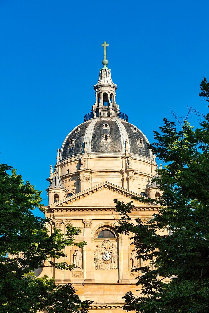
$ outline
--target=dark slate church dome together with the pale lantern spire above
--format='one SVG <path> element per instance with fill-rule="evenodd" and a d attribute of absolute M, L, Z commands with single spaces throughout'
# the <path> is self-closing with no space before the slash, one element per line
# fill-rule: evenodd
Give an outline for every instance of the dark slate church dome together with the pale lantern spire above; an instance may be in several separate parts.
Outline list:
<path fill-rule="evenodd" d="M 120 112 L 115 101 L 117 85 L 108 69 L 106 53 L 99 80 L 94 85 L 96 101 L 84 123 L 76 126 L 66 137 L 60 151 L 60 161 L 82 153 L 131 153 L 150 158 L 147 138 L 136 126 L 128 123 L 128 116 Z"/>

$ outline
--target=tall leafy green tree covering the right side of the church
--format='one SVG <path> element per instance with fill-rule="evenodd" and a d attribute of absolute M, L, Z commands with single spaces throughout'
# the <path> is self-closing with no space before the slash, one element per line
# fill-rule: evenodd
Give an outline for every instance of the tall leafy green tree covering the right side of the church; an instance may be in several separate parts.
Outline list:
<path fill-rule="evenodd" d="M 204 78 L 200 96 L 209 101 Z M 166 166 L 155 178 L 163 192 L 159 213 L 143 224 L 132 223 L 131 203 L 115 200 L 118 231 L 133 233 L 145 266 L 137 285 L 139 297 L 125 295 L 125 310 L 143 313 L 209 311 L 209 114 L 194 130 L 187 118 L 164 119 L 154 131 L 151 151 Z M 166 230 L 166 234 L 163 231 Z M 165 233 L 165 232 L 164 232 Z M 150 263 L 149 263 L 150 260 Z"/>

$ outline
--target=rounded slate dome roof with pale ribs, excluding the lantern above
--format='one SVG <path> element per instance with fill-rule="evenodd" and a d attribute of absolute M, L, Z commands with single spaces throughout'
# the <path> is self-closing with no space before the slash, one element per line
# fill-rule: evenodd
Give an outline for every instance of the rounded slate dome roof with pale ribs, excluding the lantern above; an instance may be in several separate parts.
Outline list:
<path fill-rule="evenodd" d="M 70 156 L 87 154 L 128 153 L 150 158 L 147 138 L 136 126 L 117 117 L 96 117 L 76 126 L 66 137 L 60 151 L 60 161 Z"/>

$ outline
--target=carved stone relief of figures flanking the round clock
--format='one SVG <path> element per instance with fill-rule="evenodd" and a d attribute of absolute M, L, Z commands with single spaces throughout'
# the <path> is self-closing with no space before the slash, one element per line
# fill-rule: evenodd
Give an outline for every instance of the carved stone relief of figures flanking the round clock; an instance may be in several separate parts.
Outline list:
<path fill-rule="evenodd" d="M 118 269 L 118 250 L 110 240 L 103 240 L 94 251 L 95 269 Z"/>

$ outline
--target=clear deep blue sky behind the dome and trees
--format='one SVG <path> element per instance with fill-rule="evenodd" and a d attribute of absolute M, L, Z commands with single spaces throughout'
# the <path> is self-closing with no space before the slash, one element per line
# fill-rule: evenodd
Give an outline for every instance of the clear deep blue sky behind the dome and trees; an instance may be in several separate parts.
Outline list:
<path fill-rule="evenodd" d="M 116 101 L 149 141 L 171 108 L 206 112 L 208 1 L 0 1 L 0 162 L 43 190 L 94 104 L 103 48 Z M 192 119 L 195 122 L 195 119 Z"/>

